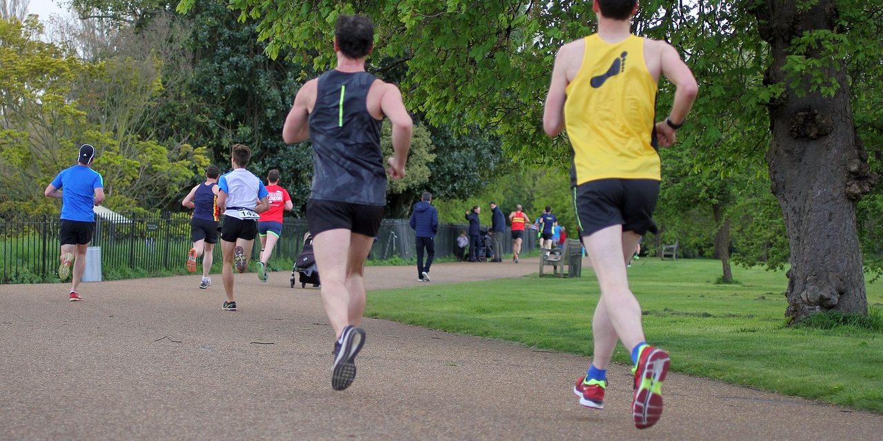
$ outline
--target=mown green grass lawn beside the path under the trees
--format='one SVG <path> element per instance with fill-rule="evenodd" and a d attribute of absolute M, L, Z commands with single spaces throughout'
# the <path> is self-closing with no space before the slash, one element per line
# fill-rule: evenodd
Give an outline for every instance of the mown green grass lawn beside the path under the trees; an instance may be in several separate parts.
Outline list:
<path fill-rule="evenodd" d="M 875 329 L 794 328 L 783 315 L 783 272 L 733 273 L 736 284 L 718 285 L 721 263 L 699 259 L 644 258 L 629 269 L 647 341 L 671 353 L 673 371 L 883 413 L 881 284 L 868 286 Z M 591 355 L 599 289 L 592 270 L 583 276 L 373 291 L 366 315 Z M 614 360 L 630 356 L 620 346 Z"/>

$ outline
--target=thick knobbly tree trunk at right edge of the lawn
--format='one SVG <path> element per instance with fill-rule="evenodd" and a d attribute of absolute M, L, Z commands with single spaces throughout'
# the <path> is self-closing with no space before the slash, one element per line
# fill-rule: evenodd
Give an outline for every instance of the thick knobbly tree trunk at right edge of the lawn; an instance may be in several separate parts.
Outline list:
<path fill-rule="evenodd" d="M 804 11 L 796 4 L 805 2 L 766 0 L 754 11 L 773 56 L 765 82 L 785 85 L 769 104 L 773 138 L 766 154 L 791 252 L 785 315 L 799 321 L 826 310 L 867 314 L 856 203 L 876 176 L 856 137 L 842 61 L 828 56 L 821 69 L 823 78 L 839 85 L 833 95 L 811 91 L 812 68 L 796 77 L 783 69 L 789 55 L 820 57 L 817 49 L 796 53 L 793 39 L 814 30 L 837 32 L 834 0 Z"/>

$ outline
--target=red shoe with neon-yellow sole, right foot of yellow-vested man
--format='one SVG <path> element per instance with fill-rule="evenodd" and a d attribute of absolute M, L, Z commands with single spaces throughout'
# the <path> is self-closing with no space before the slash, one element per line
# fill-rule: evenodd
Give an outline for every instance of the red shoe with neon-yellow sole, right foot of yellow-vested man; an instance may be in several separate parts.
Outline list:
<path fill-rule="evenodd" d="M 635 395 L 631 400 L 631 410 L 635 417 L 635 427 L 646 429 L 653 426 L 662 416 L 662 380 L 668 372 L 668 352 L 646 346 L 638 357 L 635 374 Z"/>

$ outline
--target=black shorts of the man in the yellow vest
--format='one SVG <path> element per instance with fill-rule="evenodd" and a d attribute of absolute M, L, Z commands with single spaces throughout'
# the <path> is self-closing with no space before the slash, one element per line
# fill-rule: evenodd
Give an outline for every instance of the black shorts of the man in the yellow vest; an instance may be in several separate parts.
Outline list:
<path fill-rule="evenodd" d="M 653 179 L 600 179 L 577 185 L 573 202 L 580 235 L 622 225 L 623 231 L 644 235 L 657 232 L 653 210 L 660 182 Z"/>

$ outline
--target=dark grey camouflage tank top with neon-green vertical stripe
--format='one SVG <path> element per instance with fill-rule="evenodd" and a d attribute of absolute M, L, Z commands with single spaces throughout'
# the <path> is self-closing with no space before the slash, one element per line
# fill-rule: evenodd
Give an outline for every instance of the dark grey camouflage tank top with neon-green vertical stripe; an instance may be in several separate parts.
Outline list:
<path fill-rule="evenodd" d="M 381 121 L 368 113 L 374 75 L 327 71 L 319 77 L 310 114 L 313 185 L 310 198 L 385 206 L 387 178 Z"/>

